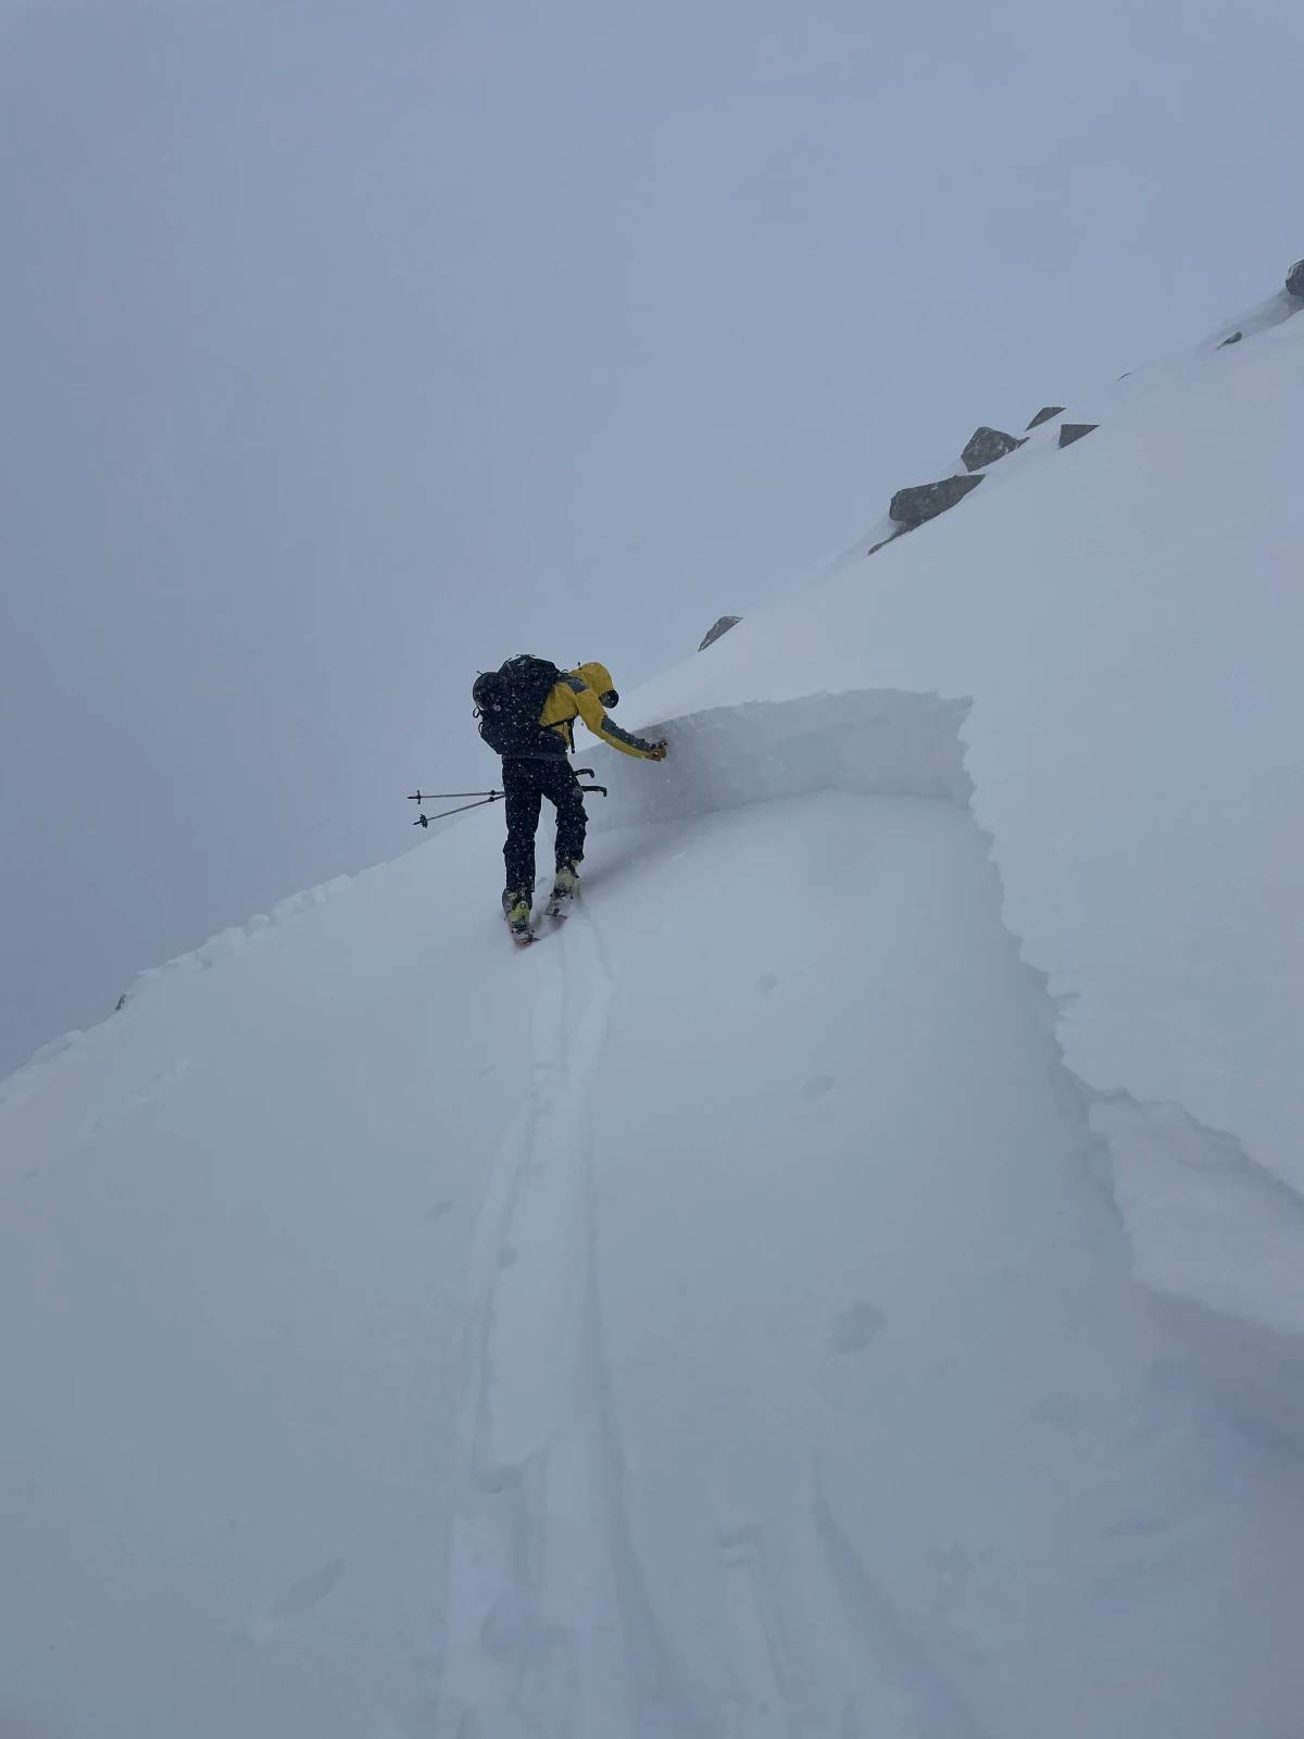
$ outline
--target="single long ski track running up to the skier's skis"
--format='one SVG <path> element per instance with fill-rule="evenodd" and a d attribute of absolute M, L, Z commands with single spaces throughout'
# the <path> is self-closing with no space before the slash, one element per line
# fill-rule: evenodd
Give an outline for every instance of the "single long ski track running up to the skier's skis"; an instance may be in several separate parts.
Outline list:
<path fill-rule="evenodd" d="M 581 911 L 556 943 L 473 1245 L 440 1739 L 695 1730 L 629 1544 L 598 1308 L 589 1101 L 614 979 Z"/>

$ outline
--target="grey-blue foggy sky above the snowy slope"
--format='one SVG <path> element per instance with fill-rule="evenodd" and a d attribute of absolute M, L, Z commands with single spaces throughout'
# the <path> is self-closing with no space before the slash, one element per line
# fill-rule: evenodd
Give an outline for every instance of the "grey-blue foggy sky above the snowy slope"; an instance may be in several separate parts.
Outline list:
<path fill-rule="evenodd" d="M 1269 294 L 1299 12 L 0 0 L 0 1073 Z"/>

